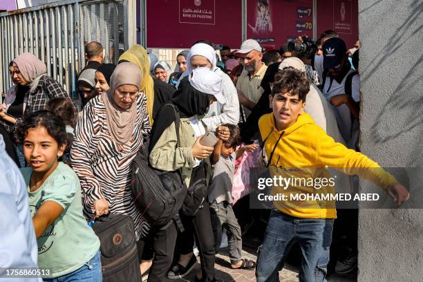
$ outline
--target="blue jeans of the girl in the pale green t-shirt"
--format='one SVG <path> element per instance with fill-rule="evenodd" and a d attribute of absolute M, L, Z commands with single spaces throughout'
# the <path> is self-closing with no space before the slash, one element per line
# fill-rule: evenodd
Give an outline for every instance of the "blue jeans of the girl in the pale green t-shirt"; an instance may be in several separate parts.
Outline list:
<path fill-rule="evenodd" d="M 102 262 L 100 261 L 100 250 L 87 261 L 82 267 L 74 272 L 59 276 L 53 279 L 43 279 L 44 282 L 102 282 Z"/>

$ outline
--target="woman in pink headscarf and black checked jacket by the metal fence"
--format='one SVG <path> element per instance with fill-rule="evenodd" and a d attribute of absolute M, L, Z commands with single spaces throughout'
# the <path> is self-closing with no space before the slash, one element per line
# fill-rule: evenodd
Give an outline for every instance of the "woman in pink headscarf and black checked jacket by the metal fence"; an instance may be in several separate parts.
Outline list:
<path fill-rule="evenodd" d="M 59 82 L 46 72 L 46 64 L 31 53 L 23 53 L 10 62 L 10 77 L 16 85 L 10 88 L 0 106 L 1 120 L 13 125 L 34 111 L 44 110 L 48 100 L 54 97 L 69 98 Z"/>

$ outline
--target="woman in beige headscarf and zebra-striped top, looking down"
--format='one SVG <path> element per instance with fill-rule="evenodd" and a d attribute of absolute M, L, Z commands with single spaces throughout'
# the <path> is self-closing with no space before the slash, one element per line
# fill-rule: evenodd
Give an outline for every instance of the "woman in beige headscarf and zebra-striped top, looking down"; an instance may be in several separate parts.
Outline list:
<path fill-rule="evenodd" d="M 130 185 L 132 160 L 151 130 L 147 99 L 138 92 L 142 75 L 140 68 L 129 62 L 115 68 L 109 91 L 84 107 L 71 151 L 86 216 L 129 215 L 137 240 L 149 231 L 135 207 Z"/>

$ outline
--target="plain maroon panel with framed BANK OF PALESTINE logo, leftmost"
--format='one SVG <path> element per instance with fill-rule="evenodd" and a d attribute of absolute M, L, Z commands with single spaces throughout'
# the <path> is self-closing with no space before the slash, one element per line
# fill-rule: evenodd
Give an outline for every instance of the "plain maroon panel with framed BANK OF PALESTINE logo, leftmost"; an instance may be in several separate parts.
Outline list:
<path fill-rule="evenodd" d="M 189 48 L 207 39 L 239 48 L 242 0 L 147 0 L 147 47 Z"/>

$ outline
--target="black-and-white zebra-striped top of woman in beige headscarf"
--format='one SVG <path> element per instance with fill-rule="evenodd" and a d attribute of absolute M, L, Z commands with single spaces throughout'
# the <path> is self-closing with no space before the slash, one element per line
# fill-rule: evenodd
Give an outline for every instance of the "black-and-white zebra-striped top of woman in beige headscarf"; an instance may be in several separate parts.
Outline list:
<path fill-rule="evenodd" d="M 131 194 L 132 160 L 144 138 L 150 134 L 147 98 L 137 97 L 137 118 L 131 140 L 118 144 L 111 138 L 106 123 L 102 96 L 94 97 L 82 111 L 75 129 L 71 150 L 72 168 L 81 182 L 84 213 L 93 217 L 93 202 L 106 198 L 112 214 L 133 218 L 137 240 L 146 236 L 149 225 L 135 207 Z"/>

